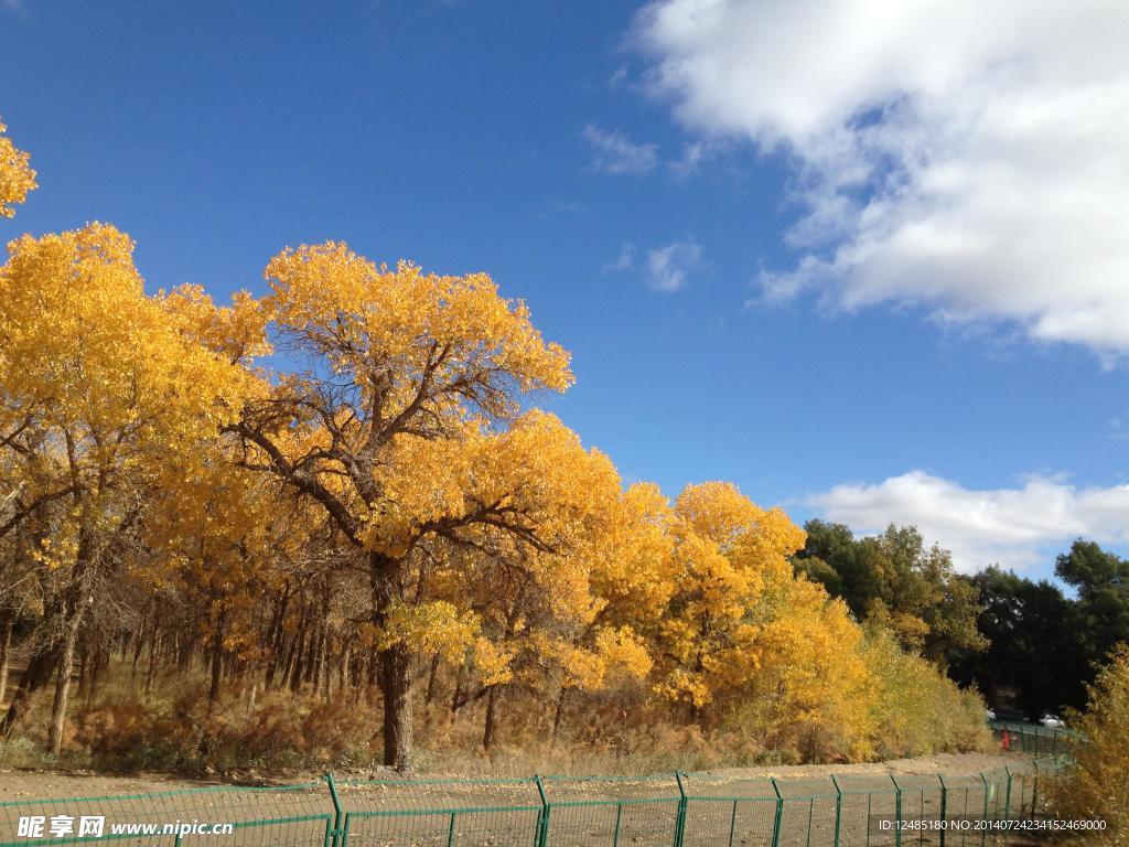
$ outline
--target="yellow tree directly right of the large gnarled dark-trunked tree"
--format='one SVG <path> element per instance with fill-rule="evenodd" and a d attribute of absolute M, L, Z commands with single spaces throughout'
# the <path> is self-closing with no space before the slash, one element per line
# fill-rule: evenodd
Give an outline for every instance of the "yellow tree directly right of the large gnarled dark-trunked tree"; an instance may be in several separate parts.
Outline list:
<path fill-rule="evenodd" d="M 434 592 L 467 604 L 488 641 L 485 654 L 495 657 L 479 684 L 462 696 L 462 701 L 485 699 L 484 748 L 492 744 L 507 688 L 532 691 L 555 679 L 563 688 L 592 691 L 610 676 L 647 675 L 651 662 L 642 640 L 625 621 L 603 615 L 607 600 L 601 587 L 610 562 L 630 568 L 639 556 L 637 513 L 605 455 L 583 449 L 575 433 L 536 411 L 483 439 L 479 461 L 471 459 L 469 444 L 449 457 L 419 439 L 412 444 L 425 455 L 394 466 L 413 474 L 420 469 L 430 484 L 404 480 L 415 496 L 423 495 L 419 500 L 395 495 L 399 489 L 390 484 L 397 503 L 410 504 L 406 513 L 439 519 L 452 504 L 429 515 L 437 494 L 454 501 L 504 498 L 530 530 L 525 535 L 489 524 L 469 527 L 458 536 L 456 566 L 430 577 Z M 460 457 L 469 464 L 460 466 Z M 426 464 L 429 459 L 435 464 Z M 456 503 L 455 510 L 462 508 Z"/>

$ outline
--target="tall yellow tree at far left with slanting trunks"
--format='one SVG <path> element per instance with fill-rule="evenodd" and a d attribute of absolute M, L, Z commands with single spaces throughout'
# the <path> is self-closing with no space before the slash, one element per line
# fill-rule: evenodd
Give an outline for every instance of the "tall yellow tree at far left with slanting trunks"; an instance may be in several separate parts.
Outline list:
<path fill-rule="evenodd" d="M 0 269 L 0 436 L 25 472 L 5 530 L 62 506 L 35 551 L 62 574 L 5 728 L 56 678 L 58 751 L 78 632 L 123 559 L 169 453 L 215 437 L 242 403 L 242 370 L 185 338 L 146 297 L 133 243 L 112 226 L 24 236 Z"/>

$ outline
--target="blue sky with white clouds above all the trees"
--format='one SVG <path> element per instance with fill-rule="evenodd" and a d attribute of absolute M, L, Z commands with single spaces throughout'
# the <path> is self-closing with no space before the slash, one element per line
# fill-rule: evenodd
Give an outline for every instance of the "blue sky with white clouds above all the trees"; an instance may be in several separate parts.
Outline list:
<path fill-rule="evenodd" d="M 838 2 L 3 0 L 0 115 L 41 187 L 0 235 L 112 221 L 151 289 L 219 299 L 325 238 L 485 270 L 572 351 L 576 387 L 544 403 L 625 479 L 728 479 L 1047 574 L 1129 525 L 1124 69 L 1075 79 L 1054 41 L 1126 16 L 1016 36 L 1000 3 L 981 29 L 1009 61 L 1062 60 L 1000 77 L 991 37 L 955 34 L 974 5 L 947 53 L 913 50 L 936 3 L 905 6 L 886 43 Z M 1095 85 L 1113 99 L 1048 94 Z M 952 111 L 1005 95 L 1042 107 L 1038 146 Z M 1079 108 L 1091 134 L 1056 134 Z M 1112 186 L 1038 160 L 1095 150 Z M 1056 197 L 1059 217 L 1023 209 Z"/>

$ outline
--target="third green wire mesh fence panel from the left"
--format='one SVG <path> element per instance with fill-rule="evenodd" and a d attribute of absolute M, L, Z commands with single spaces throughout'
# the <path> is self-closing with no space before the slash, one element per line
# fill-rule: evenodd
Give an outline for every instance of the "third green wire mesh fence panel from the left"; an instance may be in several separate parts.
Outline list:
<path fill-rule="evenodd" d="M 542 847 L 668 847 L 684 826 L 677 778 L 544 777 Z"/>

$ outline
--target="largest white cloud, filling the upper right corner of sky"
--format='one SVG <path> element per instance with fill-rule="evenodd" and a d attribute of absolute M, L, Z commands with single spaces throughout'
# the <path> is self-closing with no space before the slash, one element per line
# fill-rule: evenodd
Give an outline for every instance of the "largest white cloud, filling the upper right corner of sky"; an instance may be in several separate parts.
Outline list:
<path fill-rule="evenodd" d="M 1124 0 L 659 0 L 637 36 L 688 128 L 794 168 L 767 297 L 1129 353 Z"/>

